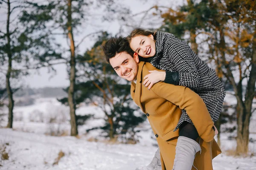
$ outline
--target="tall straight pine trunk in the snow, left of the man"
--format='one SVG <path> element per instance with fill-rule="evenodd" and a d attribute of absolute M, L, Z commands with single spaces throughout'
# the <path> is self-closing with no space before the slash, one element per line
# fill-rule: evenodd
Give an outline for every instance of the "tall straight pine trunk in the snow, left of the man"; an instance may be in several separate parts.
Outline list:
<path fill-rule="evenodd" d="M 71 136 L 76 136 L 78 134 L 76 125 L 76 105 L 74 100 L 74 86 L 75 86 L 75 76 L 76 76 L 76 59 L 75 59 L 75 43 L 73 39 L 72 32 L 72 11 L 71 5 L 72 0 L 68 0 L 67 8 L 67 29 L 68 37 L 70 39 L 70 87 L 68 89 L 68 105 L 70 107 L 70 124 L 71 124 Z"/>

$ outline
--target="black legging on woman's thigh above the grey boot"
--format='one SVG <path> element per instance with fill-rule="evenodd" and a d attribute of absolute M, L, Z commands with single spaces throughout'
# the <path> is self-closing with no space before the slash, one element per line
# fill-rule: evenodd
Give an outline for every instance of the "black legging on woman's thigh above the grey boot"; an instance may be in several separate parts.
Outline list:
<path fill-rule="evenodd" d="M 196 140 L 199 136 L 195 126 L 191 125 L 189 122 L 183 122 L 179 128 L 180 136 L 185 136 L 193 140 Z"/>

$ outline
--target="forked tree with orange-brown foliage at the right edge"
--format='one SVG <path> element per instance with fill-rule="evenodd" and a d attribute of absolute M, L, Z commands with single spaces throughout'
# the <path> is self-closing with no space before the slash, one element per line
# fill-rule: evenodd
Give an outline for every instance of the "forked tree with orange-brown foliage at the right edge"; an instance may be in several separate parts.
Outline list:
<path fill-rule="evenodd" d="M 227 79 L 235 92 L 238 118 L 236 155 L 245 155 L 248 152 L 252 101 L 256 95 L 256 2 L 209 2 L 218 10 L 209 21 L 209 50 L 215 59 L 218 76 Z"/>

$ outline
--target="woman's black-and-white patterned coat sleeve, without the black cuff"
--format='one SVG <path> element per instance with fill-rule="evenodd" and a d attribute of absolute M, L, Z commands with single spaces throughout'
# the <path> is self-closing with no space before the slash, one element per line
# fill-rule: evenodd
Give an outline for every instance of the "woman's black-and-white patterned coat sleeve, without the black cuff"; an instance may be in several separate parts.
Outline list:
<path fill-rule="evenodd" d="M 169 35 L 169 38 L 164 51 L 167 55 L 167 62 L 172 62 L 178 71 L 178 85 L 196 88 L 198 86 L 198 70 L 192 60 L 193 55 L 196 54 L 186 42 L 177 39 L 174 35 Z"/>

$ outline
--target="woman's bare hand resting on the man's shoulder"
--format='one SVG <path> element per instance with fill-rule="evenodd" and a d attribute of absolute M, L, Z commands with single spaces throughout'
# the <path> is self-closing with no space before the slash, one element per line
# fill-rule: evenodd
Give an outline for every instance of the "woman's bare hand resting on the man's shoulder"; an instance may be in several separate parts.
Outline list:
<path fill-rule="evenodd" d="M 143 85 L 148 87 L 148 90 L 157 82 L 164 81 L 166 72 L 165 71 L 148 71 L 150 74 L 145 75 Z"/>

